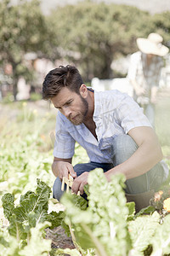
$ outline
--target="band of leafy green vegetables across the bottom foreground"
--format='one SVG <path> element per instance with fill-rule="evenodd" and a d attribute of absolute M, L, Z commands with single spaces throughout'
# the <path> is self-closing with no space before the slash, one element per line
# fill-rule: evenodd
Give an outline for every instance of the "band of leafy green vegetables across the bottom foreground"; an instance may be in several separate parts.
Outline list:
<path fill-rule="evenodd" d="M 43 230 L 62 225 L 66 233 L 71 234 L 76 248 L 59 248 L 51 255 L 161 256 L 170 253 L 170 215 L 161 219 L 160 214 L 153 211 L 154 207 L 144 208 L 135 215 L 134 203 L 126 203 L 123 188 L 121 174 L 108 183 L 103 171 L 96 169 L 88 176 L 88 207 L 81 196 L 65 194 L 62 197 L 65 212 L 49 214 L 50 188 L 39 179 L 36 192 L 27 191 L 20 196 L 20 206 L 14 206 L 14 195 L 3 195 L 3 212 L 9 221 L 10 236 L 7 230 L 0 230 L 2 252 L 7 256 L 48 255 L 51 241 L 44 241 Z"/>

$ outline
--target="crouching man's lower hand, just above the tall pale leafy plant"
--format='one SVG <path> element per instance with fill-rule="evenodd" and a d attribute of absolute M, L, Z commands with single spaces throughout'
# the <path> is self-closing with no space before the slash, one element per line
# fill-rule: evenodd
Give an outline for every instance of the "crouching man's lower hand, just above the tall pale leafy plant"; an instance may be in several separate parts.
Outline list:
<path fill-rule="evenodd" d="M 73 184 L 72 184 L 72 192 L 75 194 L 80 191 L 80 194 L 83 194 L 83 187 L 88 183 L 88 174 L 89 172 L 83 172 L 79 177 L 76 177 Z"/>

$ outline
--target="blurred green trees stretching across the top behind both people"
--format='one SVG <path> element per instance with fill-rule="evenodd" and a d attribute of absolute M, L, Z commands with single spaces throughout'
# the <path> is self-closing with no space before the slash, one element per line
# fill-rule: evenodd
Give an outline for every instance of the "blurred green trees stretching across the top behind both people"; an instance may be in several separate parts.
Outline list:
<path fill-rule="evenodd" d="M 15 85 L 19 76 L 35 84 L 33 65 L 25 58 L 30 52 L 51 61 L 74 63 L 89 82 L 94 76 L 115 77 L 111 61 L 133 53 L 136 38 L 150 32 L 160 32 L 165 44 L 170 38 L 169 12 L 150 15 L 133 6 L 81 1 L 57 6 L 51 15 L 44 16 L 38 0 L 12 3 L 0 2 L 0 61 L 3 68 L 12 65 Z"/>

